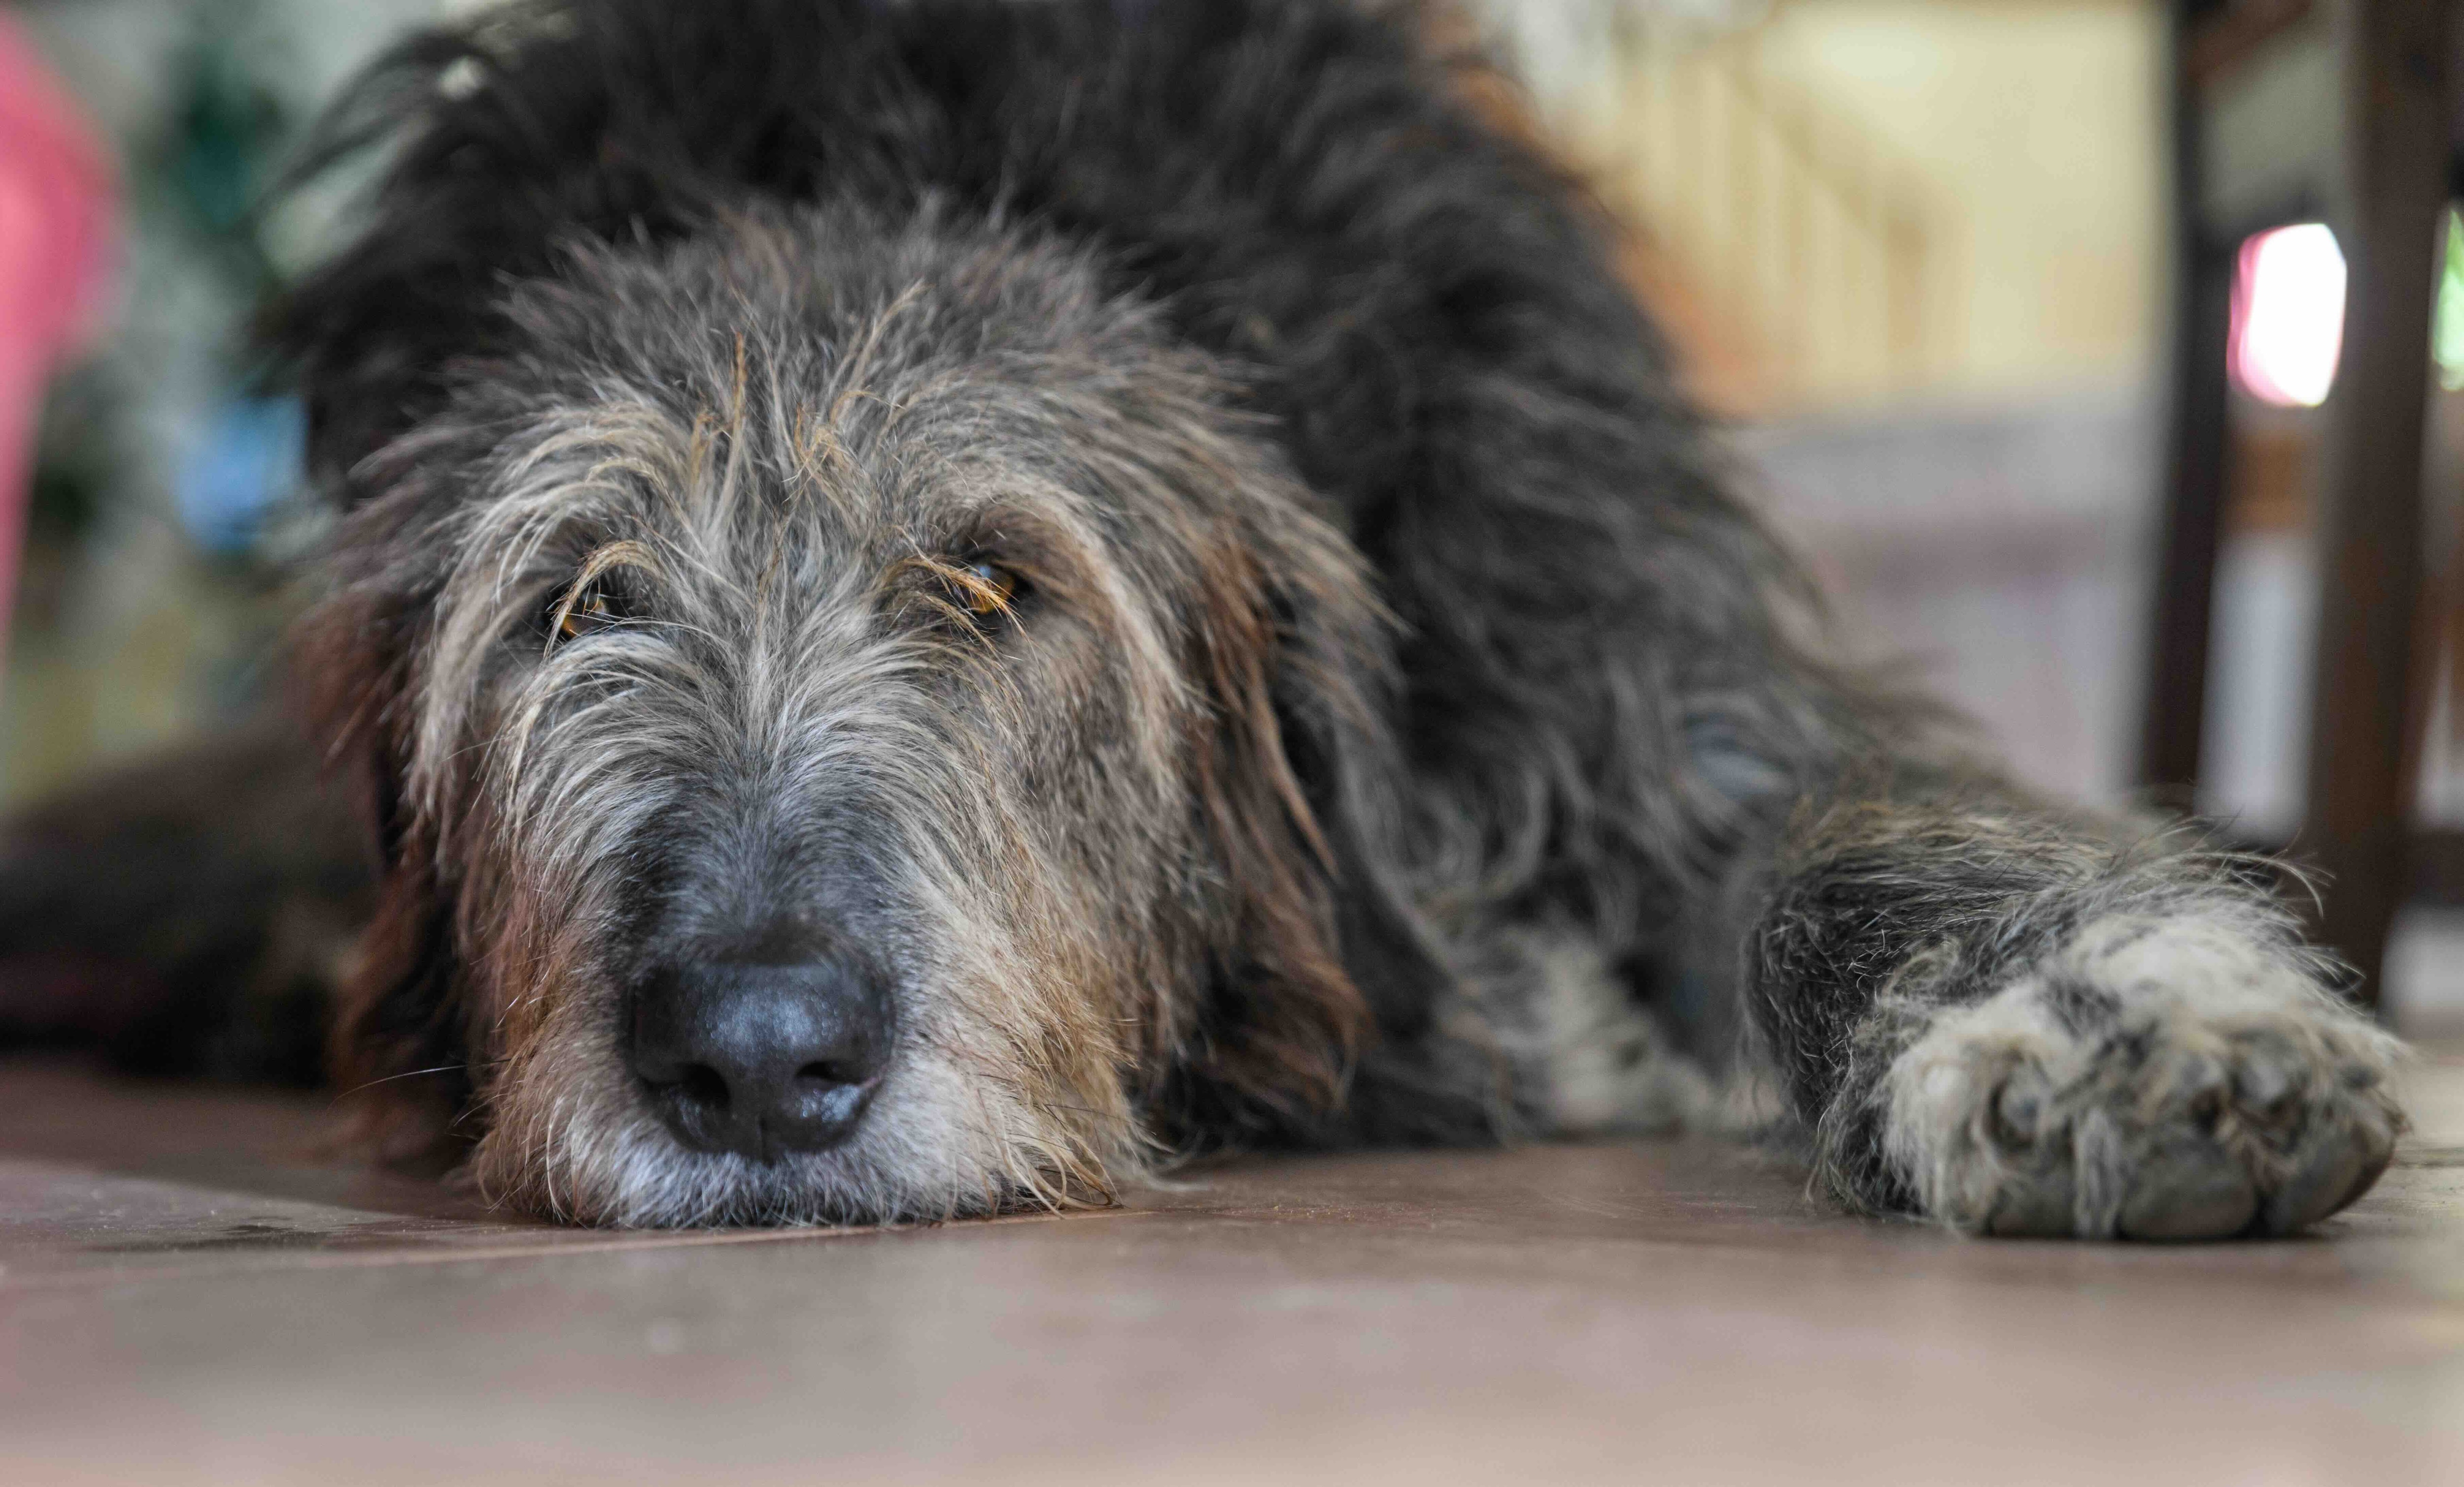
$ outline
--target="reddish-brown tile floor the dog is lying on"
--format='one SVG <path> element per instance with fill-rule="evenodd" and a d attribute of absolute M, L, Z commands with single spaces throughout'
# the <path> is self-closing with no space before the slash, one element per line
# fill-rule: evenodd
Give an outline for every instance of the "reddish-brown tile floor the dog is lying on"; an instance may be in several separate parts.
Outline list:
<path fill-rule="evenodd" d="M 1663 1142 L 609 1236 L 0 1064 L 0 1482 L 2464 1482 L 2464 1051 L 2314 1238 L 1860 1224 Z"/>

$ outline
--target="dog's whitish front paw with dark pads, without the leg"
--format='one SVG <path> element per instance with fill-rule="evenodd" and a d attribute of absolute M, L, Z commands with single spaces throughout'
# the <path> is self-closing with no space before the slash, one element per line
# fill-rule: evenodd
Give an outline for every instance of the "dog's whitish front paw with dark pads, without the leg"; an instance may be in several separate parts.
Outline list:
<path fill-rule="evenodd" d="M 2395 1056 L 2252 926 L 2109 918 L 1932 1019 L 1885 1081 L 1885 1150 L 1956 1228 L 2292 1233 L 2388 1167 Z"/>

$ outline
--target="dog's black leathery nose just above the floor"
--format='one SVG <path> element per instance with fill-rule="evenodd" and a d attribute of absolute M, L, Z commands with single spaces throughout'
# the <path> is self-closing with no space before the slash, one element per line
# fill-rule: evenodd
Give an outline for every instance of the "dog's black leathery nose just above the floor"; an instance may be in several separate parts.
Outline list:
<path fill-rule="evenodd" d="M 818 1152 L 882 1083 L 890 1007 L 877 975 L 840 960 L 670 965 L 636 990 L 633 1073 L 690 1147 Z"/>

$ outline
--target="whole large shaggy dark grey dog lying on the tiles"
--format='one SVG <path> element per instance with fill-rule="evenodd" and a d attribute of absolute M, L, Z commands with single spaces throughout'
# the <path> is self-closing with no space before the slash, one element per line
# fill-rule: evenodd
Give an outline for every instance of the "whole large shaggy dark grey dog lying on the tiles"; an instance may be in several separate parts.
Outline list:
<path fill-rule="evenodd" d="M 271 340 L 387 1152 L 584 1224 L 939 1219 L 1767 1081 L 1841 1204 L 1969 1231 L 2370 1187 L 2395 1044 L 2267 872 L 1826 660 L 1609 229 L 1422 34 L 530 0 L 360 84 L 372 219 Z M 79 884 L 207 876 L 111 795 L 20 830 L 20 950 L 143 960 Z M 138 1044 L 286 1046 L 229 1029 L 315 980 L 266 970 L 301 874 L 244 876 Z"/>

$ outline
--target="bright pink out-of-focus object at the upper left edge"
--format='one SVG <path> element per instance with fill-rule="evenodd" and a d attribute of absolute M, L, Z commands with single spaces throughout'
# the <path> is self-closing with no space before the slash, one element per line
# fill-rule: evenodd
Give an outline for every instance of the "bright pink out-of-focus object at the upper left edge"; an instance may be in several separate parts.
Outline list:
<path fill-rule="evenodd" d="M 0 655 L 17 603 L 34 414 L 52 364 L 101 300 L 111 194 L 111 160 L 0 15 Z"/>

